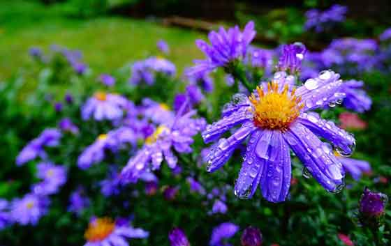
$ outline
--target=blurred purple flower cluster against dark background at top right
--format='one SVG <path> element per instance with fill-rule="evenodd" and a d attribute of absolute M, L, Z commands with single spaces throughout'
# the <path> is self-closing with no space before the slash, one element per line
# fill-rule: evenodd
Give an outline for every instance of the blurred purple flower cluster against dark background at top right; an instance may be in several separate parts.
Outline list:
<path fill-rule="evenodd" d="M 346 6 L 339 4 L 335 4 L 325 11 L 317 9 L 308 10 L 305 14 L 307 21 L 304 24 L 304 28 L 307 30 L 315 29 L 317 33 L 320 33 L 338 22 L 343 22 L 346 18 L 347 11 L 348 8 Z"/>

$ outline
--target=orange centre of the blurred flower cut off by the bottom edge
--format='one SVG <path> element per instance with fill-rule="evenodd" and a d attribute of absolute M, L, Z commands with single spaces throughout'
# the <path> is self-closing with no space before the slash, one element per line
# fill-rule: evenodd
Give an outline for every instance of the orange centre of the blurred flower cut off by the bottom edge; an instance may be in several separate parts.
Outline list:
<path fill-rule="evenodd" d="M 89 242 L 101 242 L 114 231 L 115 222 L 110 218 L 103 217 L 89 223 L 87 231 L 84 233 L 84 238 Z"/>

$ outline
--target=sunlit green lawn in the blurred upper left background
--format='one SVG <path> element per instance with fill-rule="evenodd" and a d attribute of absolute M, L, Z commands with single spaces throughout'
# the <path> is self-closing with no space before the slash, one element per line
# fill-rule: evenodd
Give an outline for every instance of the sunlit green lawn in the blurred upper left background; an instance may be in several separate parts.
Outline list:
<path fill-rule="evenodd" d="M 26 1 L 0 0 L 0 6 L 0 80 L 30 62 L 31 46 L 48 49 L 57 44 L 80 49 L 84 61 L 98 72 L 110 72 L 128 61 L 158 54 L 156 41 L 160 38 L 169 43 L 168 59 L 179 72 L 200 57 L 194 41 L 203 35 L 195 31 L 122 17 L 80 20 L 67 17 L 60 8 Z"/>

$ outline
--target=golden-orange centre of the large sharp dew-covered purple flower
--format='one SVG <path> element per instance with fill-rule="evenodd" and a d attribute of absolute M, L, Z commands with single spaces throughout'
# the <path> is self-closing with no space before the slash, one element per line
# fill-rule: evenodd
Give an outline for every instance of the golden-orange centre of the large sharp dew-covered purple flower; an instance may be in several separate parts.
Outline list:
<path fill-rule="evenodd" d="M 249 100 L 253 104 L 253 121 L 259 128 L 269 130 L 286 131 L 290 123 L 300 115 L 302 98 L 297 98 L 295 89 L 288 91 L 288 84 L 279 92 L 279 85 L 276 82 L 267 84 L 267 92 L 263 87 L 257 86 L 256 95 L 251 94 Z"/>

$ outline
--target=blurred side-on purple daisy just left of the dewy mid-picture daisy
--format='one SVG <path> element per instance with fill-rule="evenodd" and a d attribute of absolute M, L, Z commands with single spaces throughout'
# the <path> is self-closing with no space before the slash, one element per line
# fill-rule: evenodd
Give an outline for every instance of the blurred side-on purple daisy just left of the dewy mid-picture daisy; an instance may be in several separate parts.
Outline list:
<path fill-rule="evenodd" d="M 103 160 L 105 150 L 115 153 L 120 148 L 126 146 L 126 144 L 135 145 L 136 143 L 137 136 L 133 129 L 128 127 L 117 128 L 116 130 L 111 130 L 108 134 L 101 134 L 78 157 L 78 167 L 80 169 L 88 169 L 92 164 Z"/>

